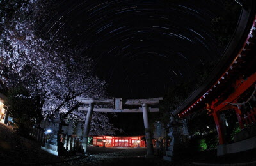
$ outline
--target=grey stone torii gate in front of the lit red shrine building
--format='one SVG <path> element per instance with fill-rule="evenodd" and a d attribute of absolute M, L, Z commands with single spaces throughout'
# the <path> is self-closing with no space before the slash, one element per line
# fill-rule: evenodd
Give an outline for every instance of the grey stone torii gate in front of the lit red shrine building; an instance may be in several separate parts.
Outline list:
<path fill-rule="evenodd" d="M 143 113 L 143 121 L 145 127 L 145 135 L 146 135 L 146 143 L 147 143 L 147 155 L 146 157 L 150 157 L 154 155 L 153 146 L 152 146 L 152 137 L 150 135 L 150 126 L 148 123 L 148 112 L 158 112 L 158 107 L 151 107 L 153 105 L 158 105 L 159 100 L 163 100 L 163 98 L 149 98 L 149 99 L 127 99 L 122 100 L 122 98 L 114 98 L 114 99 L 99 99 L 94 100 L 91 98 L 81 98 L 77 97 L 76 100 L 80 103 L 88 104 L 89 107 L 79 107 L 79 110 L 88 111 L 84 123 L 84 131 L 83 131 L 83 140 L 82 145 L 84 152 L 86 153 L 88 146 L 88 137 L 90 131 L 90 123 L 92 119 L 93 111 L 95 112 L 142 112 Z M 111 104 L 113 108 L 94 108 L 95 104 Z M 133 106 L 138 108 L 135 109 L 125 109 L 122 106 Z M 141 107 L 140 107 L 141 106 Z"/>

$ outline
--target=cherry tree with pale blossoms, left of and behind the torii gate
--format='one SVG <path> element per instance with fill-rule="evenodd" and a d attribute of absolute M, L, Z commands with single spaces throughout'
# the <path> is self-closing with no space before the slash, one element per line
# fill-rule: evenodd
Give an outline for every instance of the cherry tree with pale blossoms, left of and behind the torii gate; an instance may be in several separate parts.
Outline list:
<path fill-rule="evenodd" d="M 8 88 L 21 85 L 28 90 L 44 117 L 60 114 L 63 119 L 84 120 L 86 113 L 77 110 L 81 103 L 76 96 L 104 98 L 106 82 L 90 75 L 92 59 L 77 58 L 81 49 L 65 43 L 65 34 L 52 41 L 36 29 L 47 18 L 47 2 L 1 4 L 0 79 Z M 115 134 L 106 114 L 93 114 L 92 119 L 92 131 Z"/>

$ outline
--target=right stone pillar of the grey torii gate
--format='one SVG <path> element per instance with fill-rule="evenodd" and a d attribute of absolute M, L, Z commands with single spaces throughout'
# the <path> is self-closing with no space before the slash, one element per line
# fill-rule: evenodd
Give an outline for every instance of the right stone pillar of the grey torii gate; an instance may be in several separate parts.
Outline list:
<path fill-rule="evenodd" d="M 142 104 L 142 113 L 143 113 L 143 121 L 144 121 L 146 143 L 147 143 L 147 155 L 145 155 L 145 157 L 153 157 L 154 149 L 153 149 L 153 144 L 152 144 L 150 126 L 148 123 L 148 107 L 147 107 L 147 104 L 145 104 L 145 103 Z"/>

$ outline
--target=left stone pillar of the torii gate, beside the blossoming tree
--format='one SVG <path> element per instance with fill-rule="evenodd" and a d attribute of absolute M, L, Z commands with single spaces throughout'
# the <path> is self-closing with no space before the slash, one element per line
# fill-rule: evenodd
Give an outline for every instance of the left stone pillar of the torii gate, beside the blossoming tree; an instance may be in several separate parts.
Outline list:
<path fill-rule="evenodd" d="M 90 124 L 92 120 L 93 107 L 94 107 L 94 103 L 90 103 L 88 107 L 85 123 L 84 123 L 84 131 L 83 131 L 83 139 L 82 139 L 82 146 L 84 149 L 84 153 L 86 153 L 87 146 L 88 146 L 88 137 L 90 132 Z"/>

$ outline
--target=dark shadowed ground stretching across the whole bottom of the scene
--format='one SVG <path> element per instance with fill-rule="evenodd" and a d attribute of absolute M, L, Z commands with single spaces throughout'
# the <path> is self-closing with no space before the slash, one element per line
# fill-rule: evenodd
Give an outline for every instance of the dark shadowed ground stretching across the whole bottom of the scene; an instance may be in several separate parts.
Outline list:
<path fill-rule="evenodd" d="M 88 147 L 90 156 L 54 156 L 41 150 L 40 144 L 13 133 L 0 123 L 0 166 L 2 165 L 256 165 L 256 150 L 216 156 L 216 150 L 195 152 L 182 150 L 172 162 L 162 158 L 145 158 L 145 148 Z M 205 164 L 203 164 L 205 163 Z"/>

